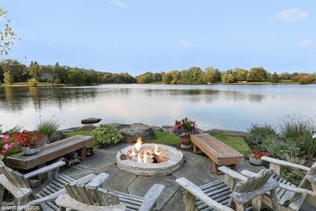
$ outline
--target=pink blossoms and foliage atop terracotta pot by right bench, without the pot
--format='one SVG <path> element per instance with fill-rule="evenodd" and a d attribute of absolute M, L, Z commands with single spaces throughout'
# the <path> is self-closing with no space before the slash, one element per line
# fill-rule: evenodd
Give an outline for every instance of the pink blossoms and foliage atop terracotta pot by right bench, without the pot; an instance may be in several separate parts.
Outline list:
<path fill-rule="evenodd" d="M 189 120 L 187 117 L 183 120 L 175 121 L 173 134 L 184 137 L 196 133 L 198 133 L 196 121 Z"/>

